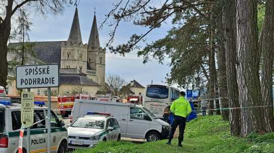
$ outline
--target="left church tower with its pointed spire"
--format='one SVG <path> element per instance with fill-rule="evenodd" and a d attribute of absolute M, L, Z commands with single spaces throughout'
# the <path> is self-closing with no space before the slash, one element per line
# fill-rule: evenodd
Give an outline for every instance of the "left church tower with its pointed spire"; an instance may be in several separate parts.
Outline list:
<path fill-rule="evenodd" d="M 70 35 L 66 42 L 61 44 L 61 68 L 87 71 L 87 46 L 82 42 L 78 10 L 75 9 Z"/>

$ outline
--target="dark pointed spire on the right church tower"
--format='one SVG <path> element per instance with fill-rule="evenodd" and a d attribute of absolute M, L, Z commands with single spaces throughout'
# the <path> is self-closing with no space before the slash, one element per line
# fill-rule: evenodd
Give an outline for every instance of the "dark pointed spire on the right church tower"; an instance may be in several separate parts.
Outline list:
<path fill-rule="evenodd" d="M 97 23 L 96 23 L 96 16 L 94 12 L 94 18 L 93 23 L 91 27 L 91 32 L 88 39 L 88 48 L 99 48 L 100 42 L 99 42 L 99 34 L 97 30 Z"/>

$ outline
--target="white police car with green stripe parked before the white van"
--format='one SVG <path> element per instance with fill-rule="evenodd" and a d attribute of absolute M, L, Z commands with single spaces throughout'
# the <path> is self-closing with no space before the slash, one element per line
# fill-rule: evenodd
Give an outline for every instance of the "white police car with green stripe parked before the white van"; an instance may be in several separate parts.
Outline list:
<path fill-rule="evenodd" d="M 68 126 L 68 148 L 90 148 L 98 141 L 121 139 L 119 124 L 108 113 L 88 112 Z"/>

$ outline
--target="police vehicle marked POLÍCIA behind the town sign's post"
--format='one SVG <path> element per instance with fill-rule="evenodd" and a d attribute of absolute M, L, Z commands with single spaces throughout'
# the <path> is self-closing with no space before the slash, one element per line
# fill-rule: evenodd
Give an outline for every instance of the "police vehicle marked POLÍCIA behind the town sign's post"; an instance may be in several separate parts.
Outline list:
<path fill-rule="evenodd" d="M 30 152 L 47 152 L 47 126 L 45 116 L 47 108 L 45 103 L 35 102 L 33 122 L 42 122 L 30 128 Z M 19 133 L 21 128 L 21 105 L 10 101 L 0 100 L 0 152 L 18 152 Z M 51 152 L 64 153 L 67 148 L 67 130 L 64 122 L 59 121 L 56 114 L 51 111 Z M 23 153 L 26 153 L 27 131 L 24 131 Z"/>

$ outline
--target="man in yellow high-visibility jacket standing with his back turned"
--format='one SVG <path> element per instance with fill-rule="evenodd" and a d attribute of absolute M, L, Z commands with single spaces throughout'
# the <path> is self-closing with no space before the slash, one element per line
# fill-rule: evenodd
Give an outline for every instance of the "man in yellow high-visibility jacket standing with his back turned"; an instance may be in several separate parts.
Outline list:
<path fill-rule="evenodd" d="M 174 113 L 174 121 L 171 125 L 171 130 L 169 132 L 169 138 L 166 144 L 170 144 L 176 128 L 179 125 L 179 137 L 178 146 L 182 146 L 182 141 L 184 139 L 184 131 L 186 127 L 186 118 L 191 113 L 191 106 L 189 102 L 185 99 L 186 93 L 184 91 L 180 92 L 180 97 L 173 101 L 170 107 L 170 112 Z"/>

